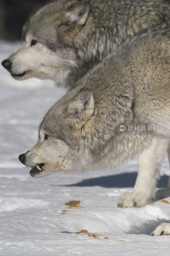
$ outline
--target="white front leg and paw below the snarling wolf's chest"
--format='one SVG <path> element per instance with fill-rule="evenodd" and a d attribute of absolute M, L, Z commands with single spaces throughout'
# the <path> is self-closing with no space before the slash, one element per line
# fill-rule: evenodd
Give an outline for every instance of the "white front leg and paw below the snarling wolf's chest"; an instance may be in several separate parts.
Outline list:
<path fill-rule="evenodd" d="M 154 138 L 151 146 L 140 154 L 134 190 L 120 197 L 118 207 L 141 207 L 151 204 L 159 178 L 159 166 L 167 147 L 167 139 Z"/>

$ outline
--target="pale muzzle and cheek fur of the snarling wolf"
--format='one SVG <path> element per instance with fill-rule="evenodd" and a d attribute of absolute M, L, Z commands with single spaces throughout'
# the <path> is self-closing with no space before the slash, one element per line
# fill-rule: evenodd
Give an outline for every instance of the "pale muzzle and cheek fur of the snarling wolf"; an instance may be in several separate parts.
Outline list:
<path fill-rule="evenodd" d="M 70 154 L 69 146 L 64 141 L 52 136 L 44 140 L 44 134 L 45 132 L 40 130 L 38 142 L 25 153 L 26 166 L 34 169 L 37 164 L 44 164 L 42 170 L 33 177 L 42 178 L 54 172 L 67 173 L 75 170 L 76 164 Z"/>

